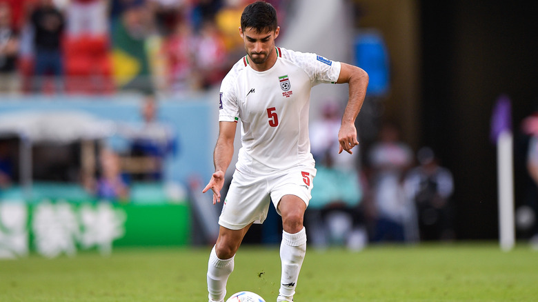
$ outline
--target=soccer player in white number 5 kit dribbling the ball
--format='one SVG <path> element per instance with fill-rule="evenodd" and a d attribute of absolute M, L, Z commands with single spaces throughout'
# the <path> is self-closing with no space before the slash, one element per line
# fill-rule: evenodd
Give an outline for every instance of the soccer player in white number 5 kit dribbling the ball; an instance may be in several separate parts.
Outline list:
<path fill-rule="evenodd" d="M 252 223 L 263 223 L 270 201 L 282 217 L 281 282 L 277 301 L 293 301 L 306 252 L 303 216 L 316 174 L 308 140 L 310 90 L 319 83 L 349 83 L 338 134 L 339 153 L 358 145 L 355 119 L 366 94 L 361 68 L 312 53 L 275 47 L 277 12 L 257 1 L 241 14 L 239 35 L 246 56 L 221 83 L 215 173 L 203 189 L 221 201 L 224 174 L 233 156 L 237 121 L 241 149 L 219 218 L 219 237 L 208 261 L 209 301 L 223 301 L 234 256 Z"/>

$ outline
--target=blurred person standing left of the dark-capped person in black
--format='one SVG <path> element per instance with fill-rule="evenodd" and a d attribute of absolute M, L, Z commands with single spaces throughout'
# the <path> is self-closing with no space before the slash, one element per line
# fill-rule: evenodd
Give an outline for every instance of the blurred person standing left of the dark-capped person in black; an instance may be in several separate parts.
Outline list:
<path fill-rule="evenodd" d="M 403 176 L 412 164 L 412 151 L 400 141 L 399 128 L 384 123 L 379 141 L 368 154 L 372 175 L 375 225 L 372 241 L 417 240 L 415 205 L 403 192 Z"/>

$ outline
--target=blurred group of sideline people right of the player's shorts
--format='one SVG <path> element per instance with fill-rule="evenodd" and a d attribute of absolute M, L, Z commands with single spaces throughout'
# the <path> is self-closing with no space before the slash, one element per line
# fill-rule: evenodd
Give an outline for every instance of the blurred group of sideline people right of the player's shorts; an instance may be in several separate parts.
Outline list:
<path fill-rule="evenodd" d="M 361 250 L 370 243 L 455 239 L 452 173 L 432 148 L 413 152 L 383 121 L 361 150 L 338 154 L 343 105 L 328 100 L 310 125 L 317 174 L 306 214 L 309 241 Z"/>

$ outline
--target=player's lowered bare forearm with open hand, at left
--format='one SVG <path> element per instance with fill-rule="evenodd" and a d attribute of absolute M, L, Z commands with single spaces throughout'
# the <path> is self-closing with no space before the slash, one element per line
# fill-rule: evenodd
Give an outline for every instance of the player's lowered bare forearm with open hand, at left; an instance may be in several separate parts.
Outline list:
<path fill-rule="evenodd" d="M 236 128 L 237 123 L 235 121 L 219 122 L 219 138 L 213 152 L 215 173 L 212 174 L 208 185 L 202 191 L 203 193 L 208 192 L 209 189 L 213 191 L 213 204 L 221 202 L 221 189 L 224 186 L 224 176 L 234 155 Z"/>

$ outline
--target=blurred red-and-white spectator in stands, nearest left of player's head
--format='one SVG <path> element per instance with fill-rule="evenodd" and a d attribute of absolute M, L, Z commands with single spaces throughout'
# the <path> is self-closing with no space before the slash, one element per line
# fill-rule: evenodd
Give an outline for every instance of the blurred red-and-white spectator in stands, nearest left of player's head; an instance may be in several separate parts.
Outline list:
<path fill-rule="evenodd" d="M 214 21 L 203 22 L 196 45 L 196 72 L 199 74 L 201 88 L 219 85 L 229 66 L 224 39 Z"/>

